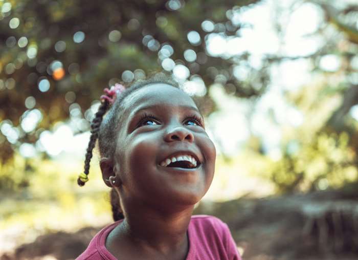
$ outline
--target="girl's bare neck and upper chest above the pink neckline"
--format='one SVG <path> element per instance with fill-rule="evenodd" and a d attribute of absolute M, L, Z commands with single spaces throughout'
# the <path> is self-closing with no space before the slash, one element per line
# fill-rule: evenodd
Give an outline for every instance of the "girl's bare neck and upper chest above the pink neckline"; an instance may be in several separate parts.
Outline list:
<path fill-rule="evenodd" d="M 135 212 L 108 235 L 107 249 L 131 259 L 185 259 L 189 250 L 187 230 L 194 206 L 177 213 Z M 130 211 L 129 211 L 130 212 Z"/>

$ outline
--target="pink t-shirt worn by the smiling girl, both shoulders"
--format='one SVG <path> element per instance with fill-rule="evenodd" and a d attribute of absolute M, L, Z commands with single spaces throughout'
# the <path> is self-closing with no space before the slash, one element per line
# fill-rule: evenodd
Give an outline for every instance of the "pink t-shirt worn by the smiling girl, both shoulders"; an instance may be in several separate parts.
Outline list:
<path fill-rule="evenodd" d="M 105 247 L 106 237 L 121 221 L 104 227 L 77 260 L 117 260 Z M 194 215 L 188 227 L 186 260 L 241 260 L 228 225 L 214 216 Z"/>

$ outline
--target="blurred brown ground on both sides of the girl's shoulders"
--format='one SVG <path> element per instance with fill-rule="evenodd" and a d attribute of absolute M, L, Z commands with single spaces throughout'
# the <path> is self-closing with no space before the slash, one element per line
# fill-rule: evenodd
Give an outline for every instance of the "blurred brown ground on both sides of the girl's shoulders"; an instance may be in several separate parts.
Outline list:
<path fill-rule="evenodd" d="M 205 202 L 195 214 L 215 215 L 226 222 L 244 260 L 353 260 L 358 258 L 357 229 L 350 222 L 354 224 L 357 206 L 342 191 L 320 191 Z M 41 235 L 0 259 L 74 259 L 99 230 L 86 227 Z"/>

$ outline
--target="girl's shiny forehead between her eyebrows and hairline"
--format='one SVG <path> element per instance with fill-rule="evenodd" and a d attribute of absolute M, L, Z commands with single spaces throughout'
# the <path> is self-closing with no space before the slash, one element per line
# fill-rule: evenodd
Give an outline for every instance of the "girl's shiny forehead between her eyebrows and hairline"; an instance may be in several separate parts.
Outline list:
<path fill-rule="evenodd" d="M 124 114 L 147 106 L 193 106 L 192 98 L 184 91 L 166 83 L 152 83 L 130 94 L 123 103 Z"/>

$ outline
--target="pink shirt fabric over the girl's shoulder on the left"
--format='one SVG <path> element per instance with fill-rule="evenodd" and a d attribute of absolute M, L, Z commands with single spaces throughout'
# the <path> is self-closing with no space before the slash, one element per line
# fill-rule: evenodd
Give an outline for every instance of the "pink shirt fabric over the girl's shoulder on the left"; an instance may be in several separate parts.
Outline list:
<path fill-rule="evenodd" d="M 88 247 L 84 252 L 76 258 L 76 260 L 102 260 L 112 259 L 113 256 L 105 248 L 105 241 L 108 233 L 113 230 L 119 222 L 112 223 L 105 226 L 99 231 L 89 242 Z"/>

